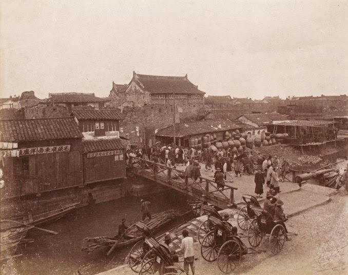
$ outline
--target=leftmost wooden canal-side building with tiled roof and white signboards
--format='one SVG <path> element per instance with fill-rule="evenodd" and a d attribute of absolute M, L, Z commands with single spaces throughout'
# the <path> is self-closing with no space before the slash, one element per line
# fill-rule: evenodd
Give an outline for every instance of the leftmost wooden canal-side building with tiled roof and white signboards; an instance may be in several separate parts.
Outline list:
<path fill-rule="evenodd" d="M 2 197 L 83 185 L 82 133 L 73 117 L 0 121 Z"/>

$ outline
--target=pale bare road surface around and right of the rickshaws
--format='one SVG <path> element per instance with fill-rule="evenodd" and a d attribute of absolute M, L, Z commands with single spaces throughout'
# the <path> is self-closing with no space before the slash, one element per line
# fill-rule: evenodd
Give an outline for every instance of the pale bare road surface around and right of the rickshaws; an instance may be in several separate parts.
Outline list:
<path fill-rule="evenodd" d="M 327 195 L 331 194 L 330 202 Z M 266 240 L 261 242 L 260 254 L 248 254 L 242 257 L 235 273 L 243 274 L 346 274 L 348 270 L 348 200 L 345 191 L 320 186 L 304 185 L 301 190 L 281 194 L 285 203 L 285 212 L 293 215 L 286 226 L 289 231 L 298 233 L 292 241 L 286 242 L 283 250 L 273 256 Z M 307 210 L 306 210 L 307 209 Z M 236 211 L 230 213 L 230 222 L 236 224 Z M 197 231 L 200 217 L 189 224 L 192 235 Z M 199 221 L 200 220 L 200 221 Z M 242 232 L 239 229 L 239 232 Z M 244 232 L 246 234 L 246 232 Z M 178 236 L 178 241 L 181 237 Z M 248 245 L 246 239 L 243 242 Z M 217 262 L 208 263 L 200 253 L 199 243 L 195 243 L 196 275 L 223 274 Z M 128 267 L 120 267 L 101 273 L 103 275 L 135 274 Z"/>

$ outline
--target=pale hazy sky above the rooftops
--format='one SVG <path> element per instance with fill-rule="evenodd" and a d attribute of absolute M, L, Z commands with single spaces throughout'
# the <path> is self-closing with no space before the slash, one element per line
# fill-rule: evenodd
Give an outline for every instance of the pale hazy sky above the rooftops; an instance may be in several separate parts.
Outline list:
<path fill-rule="evenodd" d="M 188 74 L 210 95 L 348 88 L 348 1 L 1 0 L 1 96 L 107 96 L 112 81 Z"/>

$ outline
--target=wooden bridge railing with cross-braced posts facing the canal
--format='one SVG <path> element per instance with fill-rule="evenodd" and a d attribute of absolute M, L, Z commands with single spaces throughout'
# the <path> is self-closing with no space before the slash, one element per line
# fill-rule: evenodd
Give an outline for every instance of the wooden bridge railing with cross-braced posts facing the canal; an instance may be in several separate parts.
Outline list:
<path fill-rule="evenodd" d="M 156 179 L 162 180 L 168 185 L 176 183 L 184 190 L 200 190 L 202 192 L 203 200 L 208 196 L 214 195 L 213 193 L 217 193 L 218 197 L 226 201 L 228 205 L 233 205 L 235 202 L 234 190 L 237 190 L 238 188 L 230 184 L 224 184 L 224 190 L 230 190 L 228 196 L 223 192 L 223 190 L 220 190 L 217 187 L 217 184 L 214 181 L 210 179 L 204 178 L 203 176 L 194 179 L 186 176 L 185 171 L 168 167 L 160 163 L 154 163 L 133 156 L 129 158 L 128 166 L 151 175 L 155 181 Z"/>

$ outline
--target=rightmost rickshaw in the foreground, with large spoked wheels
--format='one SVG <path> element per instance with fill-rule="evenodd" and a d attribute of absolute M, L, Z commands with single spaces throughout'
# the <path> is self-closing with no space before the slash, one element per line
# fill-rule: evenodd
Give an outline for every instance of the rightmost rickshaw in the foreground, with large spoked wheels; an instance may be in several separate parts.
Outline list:
<path fill-rule="evenodd" d="M 269 239 L 270 250 L 273 254 L 278 254 L 285 243 L 285 228 L 283 225 L 274 221 L 272 215 L 260 207 L 252 207 L 256 217 L 250 222 L 248 229 L 248 242 L 251 246 L 260 245 L 263 237 Z M 291 233 L 295 234 L 296 233 Z M 288 233 L 288 235 L 290 235 Z"/>

